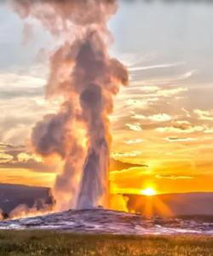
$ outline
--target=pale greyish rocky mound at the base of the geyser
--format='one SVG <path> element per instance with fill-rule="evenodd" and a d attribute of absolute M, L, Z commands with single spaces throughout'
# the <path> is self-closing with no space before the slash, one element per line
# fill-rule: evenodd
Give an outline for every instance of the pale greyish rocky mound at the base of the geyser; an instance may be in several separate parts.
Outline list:
<path fill-rule="evenodd" d="M 190 218 L 144 218 L 140 214 L 98 208 L 2 221 L 0 230 L 66 230 L 120 235 L 213 235 L 213 223 Z"/>

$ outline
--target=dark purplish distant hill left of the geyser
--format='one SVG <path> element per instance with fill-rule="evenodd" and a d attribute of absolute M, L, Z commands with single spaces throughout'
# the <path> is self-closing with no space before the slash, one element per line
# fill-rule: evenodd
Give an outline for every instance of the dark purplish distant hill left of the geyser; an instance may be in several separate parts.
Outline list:
<path fill-rule="evenodd" d="M 7 214 L 22 204 L 42 208 L 43 203 L 51 205 L 53 202 L 49 188 L 0 183 L 0 209 Z"/>

